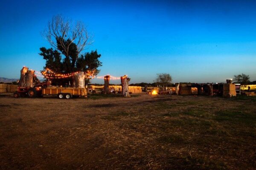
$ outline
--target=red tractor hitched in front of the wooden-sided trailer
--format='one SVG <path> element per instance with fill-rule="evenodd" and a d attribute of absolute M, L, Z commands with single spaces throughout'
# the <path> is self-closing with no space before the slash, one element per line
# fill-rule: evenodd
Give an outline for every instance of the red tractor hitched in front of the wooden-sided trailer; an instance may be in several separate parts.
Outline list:
<path fill-rule="evenodd" d="M 18 87 L 17 91 L 13 94 L 15 98 L 18 97 L 41 97 L 42 96 L 42 87 L 50 85 L 49 82 L 43 82 L 36 84 L 34 87 Z"/>

